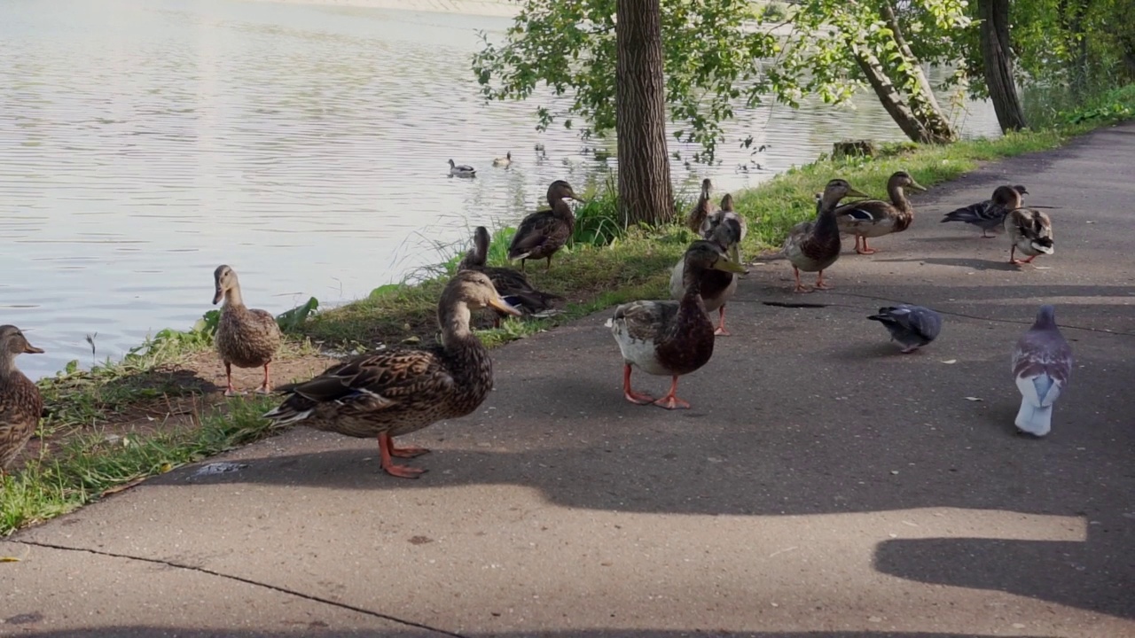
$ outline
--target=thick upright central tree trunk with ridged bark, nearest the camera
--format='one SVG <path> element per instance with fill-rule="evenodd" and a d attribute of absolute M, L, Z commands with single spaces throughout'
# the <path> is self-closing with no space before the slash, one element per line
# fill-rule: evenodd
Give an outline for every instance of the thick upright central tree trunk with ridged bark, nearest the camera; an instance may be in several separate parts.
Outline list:
<path fill-rule="evenodd" d="M 666 156 L 666 86 L 662 75 L 661 0 L 619 0 L 615 128 L 619 200 L 628 225 L 674 219 Z"/>

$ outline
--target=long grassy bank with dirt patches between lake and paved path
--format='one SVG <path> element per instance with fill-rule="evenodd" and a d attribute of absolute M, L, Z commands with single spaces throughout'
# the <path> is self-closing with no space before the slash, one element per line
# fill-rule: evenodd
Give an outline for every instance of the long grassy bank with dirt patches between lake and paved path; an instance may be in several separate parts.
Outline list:
<path fill-rule="evenodd" d="M 903 169 L 925 186 L 973 170 L 980 163 L 1053 149 L 1069 136 L 1132 117 L 1135 87 L 1115 92 L 1077 110 L 1059 114 L 1060 126 L 964 141 L 949 146 L 893 144 L 871 159 L 821 159 L 753 190 L 734 193 L 749 221 L 743 253 L 776 246 L 797 221 L 815 213 L 813 195 L 832 177 L 883 195 L 891 173 Z M 611 185 L 586 194 L 577 210 L 573 243 L 556 255 L 549 272 L 530 265 L 535 285 L 566 297 L 563 313 L 549 319 L 505 321 L 481 338 L 498 345 L 616 303 L 666 296 L 670 269 L 692 234 L 679 225 L 624 229 Z M 689 195 L 689 194 L 687 194 Z M 720 193 L 718 193 L 720 196 Z M 690 201 L 679 202 L 679 211 Z M 489 263 L 505 265 L 512 229 L 498 230 Z M 287 334 L 274 377 L 308 378 L 330 362 L 326 351 L 351 352 L 379 344 L 431 343 L 438 294 L 463 246 L 443 251 L 439 263 L 414 284 L 376 288 L 367 299 L 314 312 L 314 300 L 279 317 Z M 222 371 L 211 352 L 216 316 L 188 331 L 165 330 L 119 362 L 93 370 L 72 366 L 40 381 L 48 415 L 23 464 L 5 477 L 0 493 L 0 536 L 59 515 L 124 486 L 180 464 L 199 461 L 271 434 L 260 419 L 274 400 L 225 398 Z M 254 387 L 258 371 L 241 371 L 238 386 Z"/>

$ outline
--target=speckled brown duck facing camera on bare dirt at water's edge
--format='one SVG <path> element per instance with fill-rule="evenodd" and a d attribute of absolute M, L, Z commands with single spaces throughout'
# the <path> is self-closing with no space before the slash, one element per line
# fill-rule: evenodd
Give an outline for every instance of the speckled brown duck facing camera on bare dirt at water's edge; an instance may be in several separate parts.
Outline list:
<path fill-rule="evenodd" d="M 217 292 L 213 294 L 213 305 L 225 300 L 217 322 L 217 352 L 225 362 L 225 379 L 228 383 L 225 396 L 237 394 L 233 389 L 233 366 L 237 368 L 264 367 L 264 383 L 257 392 L 271 392 L 271 377 L 268 366 L 276 356 L 280 346 L 280 328 L 276 318 L 267 310 L 250 309 L 244 305 L 241 296 L 241 283 L 236 271 L 221 265 L 213 270 L 213 283 Z"/>

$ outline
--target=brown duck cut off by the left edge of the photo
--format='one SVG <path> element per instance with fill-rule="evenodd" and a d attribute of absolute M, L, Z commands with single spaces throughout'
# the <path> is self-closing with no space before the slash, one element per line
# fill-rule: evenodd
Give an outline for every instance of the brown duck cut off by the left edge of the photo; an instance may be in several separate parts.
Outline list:
<path fill-rule="evenodd" d="M 0 326 L 0 473 L 35 434 L 43 413 L 40 389 L 16 368 L 17 354 L 42 354 L 16 326 Z"/>

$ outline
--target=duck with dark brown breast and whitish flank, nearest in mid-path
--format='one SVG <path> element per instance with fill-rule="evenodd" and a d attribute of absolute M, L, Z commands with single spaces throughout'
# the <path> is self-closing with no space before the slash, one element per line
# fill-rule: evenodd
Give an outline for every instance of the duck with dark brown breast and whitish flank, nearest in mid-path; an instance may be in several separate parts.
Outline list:
<path fill-rule="evenodd" d="M 713 356 L 714 327 L 701 300 L 705 270 L 743 274 L 721 246 L 697 241 L 686 250 L 684 287 L 681 301 L 634 301 L 615 309 L 607 320 L 623 354 L 623 396 L 640 405 L 654 403 L 667 410 L 689 408 L 678 398 L 678 377 L 705 366 Z M 670 376 L 670 392 L 655 401 L 631 389 L 631 366 L 648 375 Z"/>

